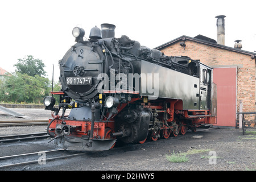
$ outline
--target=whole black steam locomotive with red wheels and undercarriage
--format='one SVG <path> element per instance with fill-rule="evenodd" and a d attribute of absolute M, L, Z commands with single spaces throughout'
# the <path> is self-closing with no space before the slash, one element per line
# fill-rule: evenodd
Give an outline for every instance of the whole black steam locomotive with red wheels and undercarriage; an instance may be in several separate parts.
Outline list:
<path fill-rule="evenodd" d="M 66 150 L 109 150 L 118 141 L 144 143 L 208 128 L 216 121 L 213 69 L 187 56 L 166 56 L 123 35 L 113 24 L 73 28 L 76 44 L 60 65 L 59 105 L 47 132 Z M 66 110 L 71 109 L 66 115 Z"/>

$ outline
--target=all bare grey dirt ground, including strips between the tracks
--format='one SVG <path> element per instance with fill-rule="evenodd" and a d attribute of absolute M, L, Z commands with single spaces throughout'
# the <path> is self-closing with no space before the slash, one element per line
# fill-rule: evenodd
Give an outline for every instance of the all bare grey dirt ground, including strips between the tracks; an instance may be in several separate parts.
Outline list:
<path fill-rule="evenodd" d="M 22 112 L 23 110 L 18 110 Z M 24 112 L 24 111 L 23 111 Z M 39 113 L 37 113 L 39 112 Z M 26 115 L 43 113 L 43 110 L 27 111 Z M 47 117 L 46 115 L 47 114 Z M 1 115 L 1 113 L 0 113 Z M 6 117 L 6 115 L 2 115 Z M 50 117 L 50 113 L 44 113 Z M 1 117 L 0 117 L 1 119 Z M 0 135 L 38 133 L 46 126 L 1 127 Z M 0 143 L 0 156 L 38 152 L 57 148 L 49 139 L 37 142 Z M 256 169 L 256 135 L 242 134 L 241 129 L 211 127 L 188 131 L 185 135 L 159 139 L 144 144 L 116 146 L 109 151 L 84 152 L 84 155 L 54 160 L 44 165 L 31 164 L 3 170 L 29 171 L 251 171 Z M 185 153 L 187 162 L 167 160 L 172 154 Z"/>

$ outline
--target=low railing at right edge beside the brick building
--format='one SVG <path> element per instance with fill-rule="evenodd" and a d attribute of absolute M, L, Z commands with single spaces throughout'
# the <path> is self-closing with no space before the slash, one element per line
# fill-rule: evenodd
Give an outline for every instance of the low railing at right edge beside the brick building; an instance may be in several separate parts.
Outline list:
<path fill-rule="evenodd" d="M 240 112 L 237 113 L 238 115 L 242 114 L 242 130 L 243 130 L 243 135 L 245 134 L 251 134 L 255 133 L 256 134 L 256 115 L 254 117 L 254 120 L 246 120 L 245 115 L 246 114 L 256 114 L 256 112 Z M 246 132 L 247 131 L 247 132 Z"/>

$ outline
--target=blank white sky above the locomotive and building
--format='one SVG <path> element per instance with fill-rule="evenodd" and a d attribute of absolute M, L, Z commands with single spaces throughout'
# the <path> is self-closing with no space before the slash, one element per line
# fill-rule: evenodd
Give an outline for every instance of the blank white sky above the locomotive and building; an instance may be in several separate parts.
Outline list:
<path fill-rule="evenodd" d="M 72 30 L 115 24 L 115 37 L 127 35 L 142 46 L 155 48 L 181 35 L 216 38 L 217 15 L 225 18 L 225 46 L 242 40 L 243 50 L 256 51 L 256 1 L 198 0 L 8 0 L 0 2 L 0 67 L 14 72 L 26 55 L 43 60 L 55 81 L 58 61 L 75 44 Z M 185 56 L 185 55 L 184 55 Z M 197 57 L 200 59 L 200 57 Z"/>

